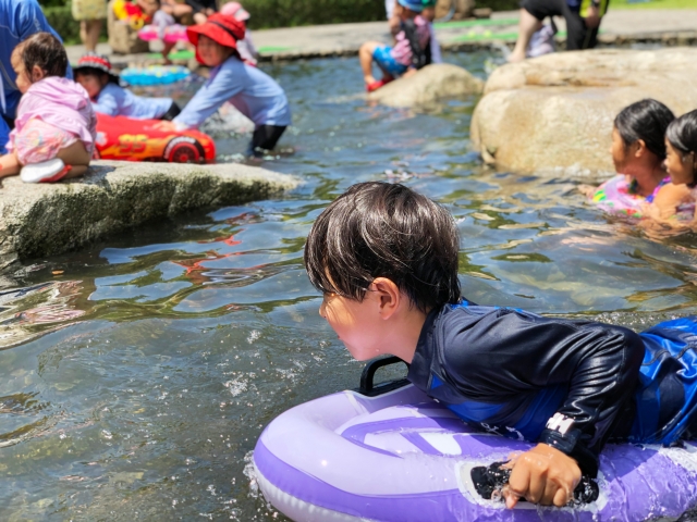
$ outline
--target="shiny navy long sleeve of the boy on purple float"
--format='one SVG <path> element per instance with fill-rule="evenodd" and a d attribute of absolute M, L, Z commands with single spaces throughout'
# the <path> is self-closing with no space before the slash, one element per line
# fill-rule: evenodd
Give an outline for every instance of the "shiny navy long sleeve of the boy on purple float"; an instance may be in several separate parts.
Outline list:
<path fill-rule="evenodd" d="M 558 413 L 573 424 L 547 430 L 542 421 L 538 442 L 576 459 L 584 473 L 597 474 L 598 453 L 638 378 L 644 344 L 636 333 L 511 309 L 445 307 L 433 321 L 430 343 L 424 334 L 419 345 L 432 347 L 430 371 L 466 399 L 505 403 L 565 387 Z"/>

